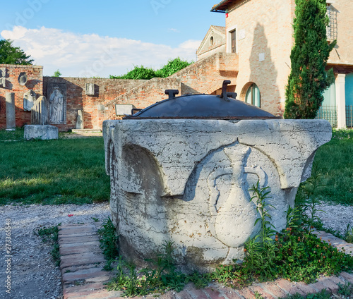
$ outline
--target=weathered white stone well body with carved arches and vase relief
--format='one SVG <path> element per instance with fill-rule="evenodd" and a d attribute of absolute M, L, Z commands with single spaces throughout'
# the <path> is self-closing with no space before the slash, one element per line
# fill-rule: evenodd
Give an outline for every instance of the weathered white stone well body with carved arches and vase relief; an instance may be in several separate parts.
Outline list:
<path fill-rule="evenodd" d="M 327 121 L 104 121 L 111 209 L 121 254 L 143 260 L 167 240 L 189 269 L 242 259 L 258 218 L 249 188 L 270 187 L 280 231 Z"/>

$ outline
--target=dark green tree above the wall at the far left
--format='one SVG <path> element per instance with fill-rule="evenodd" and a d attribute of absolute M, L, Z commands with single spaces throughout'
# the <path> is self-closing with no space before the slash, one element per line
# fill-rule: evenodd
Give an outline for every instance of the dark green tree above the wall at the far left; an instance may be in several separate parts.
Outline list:
<path fill-rule="evenodd" d="M 0 40 L 0 63 L 1 64 L 32 64 L 33 59 L 30 55 L 19 47 L 13 47 L 10 39 Z"/>

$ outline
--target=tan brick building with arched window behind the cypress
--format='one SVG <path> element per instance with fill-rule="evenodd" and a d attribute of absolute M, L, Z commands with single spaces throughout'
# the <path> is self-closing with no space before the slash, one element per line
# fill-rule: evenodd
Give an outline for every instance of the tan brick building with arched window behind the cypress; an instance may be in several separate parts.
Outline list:
<path fill-rule="evenodd" d="M 328 0 L 327 7 L 328 42 L 337 39 L 328 68 L 334 69 L 336 80 L 325 91 L 318 117 L 328 118 L 339 127 L 352 126 L 353 2 Z M 234 85 L 239 99 L 282 115 L 294 45 L 295 1 L 273 0 L 269 4 L 268 0 L 224 0 L 211 11 L 225 13 L 224 33 L 222 36 L 216 26 L 211 26 L 197 51 L 198 59 L 216 51 L 236 54 L 237 65 L 227 68 L 237 72 Z M 213 46 L 215 40 L 219 41 L 217 47 Z"/>

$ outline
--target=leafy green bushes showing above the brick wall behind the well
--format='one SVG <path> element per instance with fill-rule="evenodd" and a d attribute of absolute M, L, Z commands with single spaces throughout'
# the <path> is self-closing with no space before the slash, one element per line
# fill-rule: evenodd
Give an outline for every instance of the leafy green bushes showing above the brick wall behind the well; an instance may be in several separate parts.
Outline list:
<path fill-rule="evenodd" d="M 169 59 L 165 66 L 155 71 L 152 68 L 145 68 L 144 66 L 135 66 L 131 71 L 125 75 L 109 75 L 110 79 L 135 79 L 135 80 L 150 80 L 152 78 L 167 78 L 169 75 L 177 73 L 182 68 L 189 66 L 192 62 L 182 61 L 179 57 L 176 59 Z"/>

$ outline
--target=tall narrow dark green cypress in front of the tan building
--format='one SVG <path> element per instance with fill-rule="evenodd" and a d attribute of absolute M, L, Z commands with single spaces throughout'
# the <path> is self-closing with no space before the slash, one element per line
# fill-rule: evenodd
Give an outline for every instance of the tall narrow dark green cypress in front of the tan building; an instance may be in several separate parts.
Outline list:
<path fill-rule="evenodd" d="M 325 0 L 295 0 L 294 40 L 290 55 L 292 71 L 286 89 L 285 118 L 315 118 L 323 102 L 323 91 L 335 80 L 325 71 L 336 41 L 326 38 Z"/>

